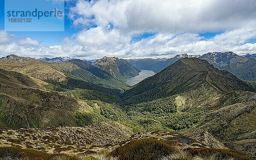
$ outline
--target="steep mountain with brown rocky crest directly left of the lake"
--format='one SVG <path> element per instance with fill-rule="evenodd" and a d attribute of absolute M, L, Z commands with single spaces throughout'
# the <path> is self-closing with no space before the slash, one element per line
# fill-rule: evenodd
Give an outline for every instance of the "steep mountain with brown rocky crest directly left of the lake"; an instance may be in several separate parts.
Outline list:
<path fill-rule="evenodd" d="M 124 80 L 133 76 L 139 75 L 140 70 L 130 65 L 124 59 L 116 57 L 103 57 L 93 62 L 93 65 L 105 70 L 116 79 Z"/>

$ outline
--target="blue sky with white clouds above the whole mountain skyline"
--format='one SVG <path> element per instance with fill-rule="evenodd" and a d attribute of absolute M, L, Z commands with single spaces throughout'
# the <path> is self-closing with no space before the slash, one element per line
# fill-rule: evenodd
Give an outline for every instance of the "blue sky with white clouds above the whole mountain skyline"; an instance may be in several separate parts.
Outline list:
<path fill-rule="evenodd" d="M 66 0 L 65 31 L 47 32 L 5 31 L 3 3 L 0 56 L 138 59 L 256 53 L 255 0 Z"/>

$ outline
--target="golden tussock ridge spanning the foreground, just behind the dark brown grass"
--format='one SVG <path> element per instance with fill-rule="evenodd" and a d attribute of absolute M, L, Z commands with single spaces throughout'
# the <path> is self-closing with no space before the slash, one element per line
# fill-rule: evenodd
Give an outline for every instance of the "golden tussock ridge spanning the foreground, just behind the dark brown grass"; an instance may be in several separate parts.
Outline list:
<path fill-rule="evenodd" d="M 17 134 L 21 138 L 18 138 Z M 103 150 L 110 152 L 125 143 L 143 138 L 155 138 L 163 142 L 173 143 L 175 147 L 181 149 L 185 146 L 188 148 L 198 146 L 200 148 L 226 149 L 222 143 L 203 130 L 193 130 L 187 136 L 165 131 L 137 132 L 134 134 L 130 128 L 116 122 L 98 122 L 85 127 L 4 129 L 0 132 L 0 142 L 5 146 L 16 145 L 24 149 L 33 147 L 48 153 L 53 151 L 82 154 Z M 211 142 L 206 143 L 205 140 L 211 140 Z M 26 143 L 24 143 L 25 141 Z M 50 146 L 44 146 L 44 144 L 50 144 Z"/>

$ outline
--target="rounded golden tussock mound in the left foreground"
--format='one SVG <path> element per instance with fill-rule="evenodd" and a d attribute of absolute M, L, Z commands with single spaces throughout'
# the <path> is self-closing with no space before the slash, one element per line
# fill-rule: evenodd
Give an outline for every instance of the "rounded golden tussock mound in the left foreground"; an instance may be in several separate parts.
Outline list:
<path fill-rule="evenodd" d="M 6 129 L 0 130 L 0 135 L 0 142 L 5 146 L 16 145 L 48 153 L 72 151 L 82 154 L 103 150 L 104 146 L 117 145 L 128 140 L 133 132 L 116 122 L 98 122 L 85 127 Z"/>

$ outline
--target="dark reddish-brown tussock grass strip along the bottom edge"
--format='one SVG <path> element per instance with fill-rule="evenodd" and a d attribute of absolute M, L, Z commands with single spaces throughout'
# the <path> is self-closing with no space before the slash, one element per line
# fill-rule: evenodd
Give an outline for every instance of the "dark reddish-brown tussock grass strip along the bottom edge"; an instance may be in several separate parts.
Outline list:
<path fill-rule="evenodd" d="M 75 156 L 47 154 L 30 149 L 0 147 L 0 160 L 256 160 L 247 154 L 230 149 L 177 149 L 161 140 L 143 138 L 119 146 L 105 154 Z"/>

